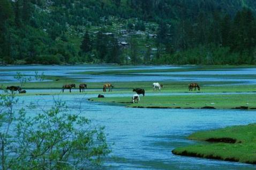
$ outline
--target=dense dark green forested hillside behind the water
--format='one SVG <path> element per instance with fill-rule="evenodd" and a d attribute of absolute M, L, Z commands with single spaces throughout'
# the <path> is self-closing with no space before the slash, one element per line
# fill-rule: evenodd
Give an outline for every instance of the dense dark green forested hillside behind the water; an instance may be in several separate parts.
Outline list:
<path fill-rule="evenodd" d="M 255 64 L 254 0 L 0 0 L 2 64 Z"/>

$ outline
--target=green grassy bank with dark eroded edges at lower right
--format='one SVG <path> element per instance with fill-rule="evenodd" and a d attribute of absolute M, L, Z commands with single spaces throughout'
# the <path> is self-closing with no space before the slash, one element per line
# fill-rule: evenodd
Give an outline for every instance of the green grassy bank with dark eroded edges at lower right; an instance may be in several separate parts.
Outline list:
<path fill-rule="evenodd" d="M 256 124 L 197 132 L 188 138 L 211 142 L 180 147 L 174 149 L 172 153 L 256 164 Z"/>

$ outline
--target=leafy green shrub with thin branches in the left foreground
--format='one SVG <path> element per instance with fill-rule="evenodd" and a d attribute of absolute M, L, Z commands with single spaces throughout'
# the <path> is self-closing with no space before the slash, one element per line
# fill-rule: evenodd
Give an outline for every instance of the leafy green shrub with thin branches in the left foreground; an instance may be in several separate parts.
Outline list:
<path fill-rule="evenodd" d="M 61 101 L 49 110 L 19 107 L 14 94 L 0 95 L 0 161 L 5 169 L 83 169 L 100 165 L 110 150 L 103 127 L 94 127 Z M 34 112 L 29 116 L 26 111 Z M 40 112 L 39 112 L 40 111 Z"/>

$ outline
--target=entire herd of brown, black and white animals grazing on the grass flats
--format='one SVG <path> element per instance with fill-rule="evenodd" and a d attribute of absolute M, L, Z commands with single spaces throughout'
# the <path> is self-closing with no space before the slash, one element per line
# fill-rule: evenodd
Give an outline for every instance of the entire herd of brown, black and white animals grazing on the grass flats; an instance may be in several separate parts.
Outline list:
<path fill-rule="evenodd" d="M 69 89 L 69 92 L 71 92 L 72 88 L 76 88 L 76 84 L 64 84 L 62 86 L 62 92 L 64 92 L 64 89 Z M 112 84 L 110 84 L 110 83 L 103 84 L 103 92 L 106 92 L 107 89 L 109 89 L 108 91 L 112 91 L 112 88 L 114 88 L 114 86 L 112 86 Z M 153 83 L 153 90 L 154 91 L 156 91 L 156 90 L 161 91 L 162 88 L 163 88 L 163 84 L 160 84 L 158 82 Z M 19 93 L 26 93 L 26 90 L 22 90 L 21 87 L 19 87 L 19 86 L 7 86 L 6 89 L 10 90 L 12 92 L 13 91 L 18 91 Z M 85 89 L 87 89 L 87 84 L 82 83 L 82 84 L 79 85 L 79 91 L 80 92 L 84 92 Z M 189 91 L 192 91 L 192 90 L 195 91 L 197 89 L 200 91 L 200 87 L 197 83 L 190 83 L 189 84 Z M 133 103 L 135 103 L 135 101 L 137 101 L 137 103 L 140 101 L 140 96 L 139 96 L 140 94 L 145 96 L 145 89 L 135 88 L 132 91 L 137 93 L 137 94 L 132 96 L 132 102 Z M 104 98 L 104 96 L 103 95 L 98 95 L 98 98 Z"/>

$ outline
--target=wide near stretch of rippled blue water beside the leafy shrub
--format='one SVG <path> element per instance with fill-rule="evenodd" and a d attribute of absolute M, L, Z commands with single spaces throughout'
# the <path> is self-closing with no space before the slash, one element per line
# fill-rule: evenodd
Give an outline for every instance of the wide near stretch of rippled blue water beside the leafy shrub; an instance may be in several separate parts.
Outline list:
<path fill-rule="evenodd" d="M 106 126 L 112 153 L 105 169 L 255 169 L 249 164 L 175 156 L 171 150 L 193 141 L 186 136 L 198 130 L 256 121 L 255 111 L 136 109 L 89 102 L 95 95 L 61 95 L 74 110 L 82 111 L 94 125 Z M 114 96 L 114 95 L 112 95 Z M 52 96 L 22 96 L 20 101 L 50 107 Z M 20 104 L 24 105 L 24 104 Z M 35 114 L 30 112 L 30 115 Z"/>

